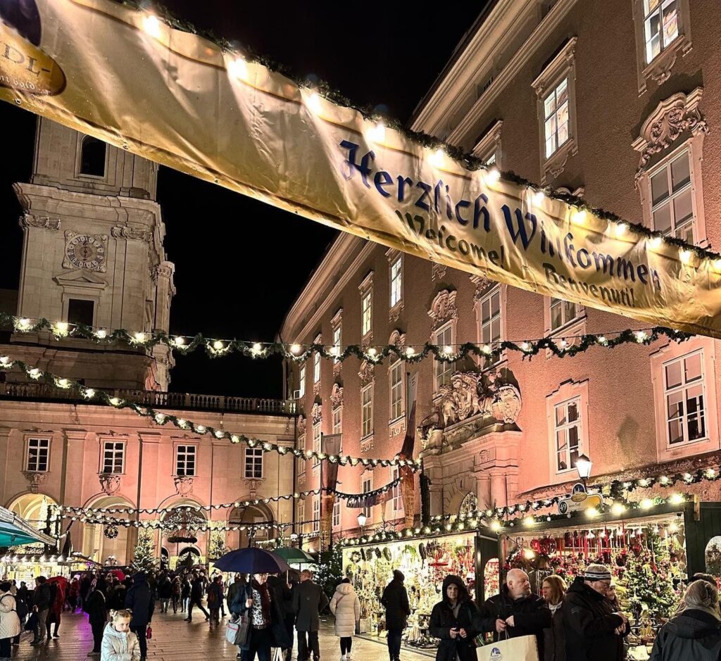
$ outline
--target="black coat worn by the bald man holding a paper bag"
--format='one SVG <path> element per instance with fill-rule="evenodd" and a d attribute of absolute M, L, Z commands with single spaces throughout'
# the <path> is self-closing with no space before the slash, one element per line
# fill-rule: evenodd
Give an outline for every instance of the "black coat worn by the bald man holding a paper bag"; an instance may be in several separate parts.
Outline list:
<path fill-rule="evenodd" d="M 520 599 L 513 599 L 508 592 L 508 585 L 500 589 L 500 593 L 487 599 L 481 608 L 479 631 L 492 631 L 493 640 L 498 640 L 495 628 L 496 620 L 505 620 L 513 616 L 514 626 L 508 626 L 503 636 L 509 638 L 518 636 L 536 636 L 539 647 L 539 659 L 544 657 L 543 630 L 551 626 L 551 611 L 546 602 L 538 595 L 528 595 Z"/>

